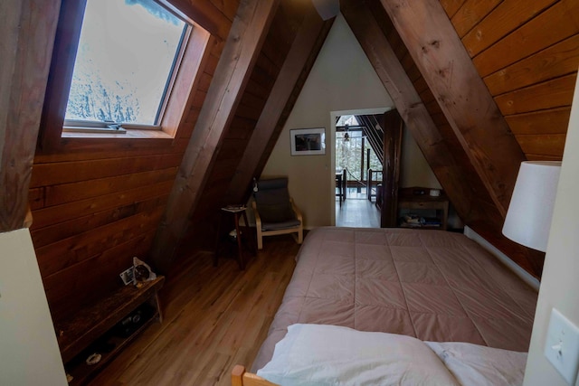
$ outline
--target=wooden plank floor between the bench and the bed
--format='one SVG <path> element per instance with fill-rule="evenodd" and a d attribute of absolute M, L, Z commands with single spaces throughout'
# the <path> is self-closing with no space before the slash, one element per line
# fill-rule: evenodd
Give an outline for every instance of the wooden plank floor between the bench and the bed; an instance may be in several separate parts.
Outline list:
<path fill-rule="evenodd" d="M 166 275 L 163 323 L 151 325 L 90 385 L 229 385 L 251 367 L 295 267 L 299 245 L 268 237 L 241 271 L 234 259 L 196 253 Z"/>

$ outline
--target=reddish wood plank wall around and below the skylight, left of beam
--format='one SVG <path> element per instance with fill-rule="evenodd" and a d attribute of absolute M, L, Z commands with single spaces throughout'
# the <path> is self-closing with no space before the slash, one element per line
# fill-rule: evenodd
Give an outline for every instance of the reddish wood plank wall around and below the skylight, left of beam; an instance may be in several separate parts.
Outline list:
<path fill-rule="evenodd" d="M 132 265 L 132 257 L 146 259 L 237 5 L 209 0 L 191 5 L 214 34 L 172 145 L 146 139 L 150 146 L 77 147 L 34 157 L 31 232 L 57 323 L 122 285 L 119 273 Z"/>

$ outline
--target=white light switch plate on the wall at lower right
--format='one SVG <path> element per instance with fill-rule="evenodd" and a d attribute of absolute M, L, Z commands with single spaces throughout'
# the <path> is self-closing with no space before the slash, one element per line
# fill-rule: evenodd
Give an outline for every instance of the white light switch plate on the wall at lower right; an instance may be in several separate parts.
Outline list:
<path fill-rule="evenodd" d="M 574 384 L 579 369 L 579 328 L 555 308 L 546 334 L 545 356 L 568 384 Z"/>

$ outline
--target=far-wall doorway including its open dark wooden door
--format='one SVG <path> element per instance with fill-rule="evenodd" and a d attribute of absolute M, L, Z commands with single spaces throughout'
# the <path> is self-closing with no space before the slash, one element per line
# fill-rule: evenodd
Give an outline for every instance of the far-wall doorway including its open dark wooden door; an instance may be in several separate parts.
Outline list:
<path fill-rule="evenodd" d="M 337 196 L 334 223 L 395 227 L 402 118 L 395 109 L 336 112 L 332 113 L 332 126 Z"/>

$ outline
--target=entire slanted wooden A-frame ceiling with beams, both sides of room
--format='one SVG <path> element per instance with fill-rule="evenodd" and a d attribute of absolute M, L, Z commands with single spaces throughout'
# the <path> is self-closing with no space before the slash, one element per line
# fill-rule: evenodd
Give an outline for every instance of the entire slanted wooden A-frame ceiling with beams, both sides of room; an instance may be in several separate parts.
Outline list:
<path fill-rule="evenodd" d="M 173 143 L 52 154 L 34 138 L 61 1 L 0 5 L 0 231 L 30 204 L 55 319 L 117 286 L 133 255 L 162 267 L 213 245 L 217 209 L 248 198 L 332 23 L 297 0 L 170 1 L 211 33 Z M 340 3 L 460 218 L 539 277 L 544 256 L 500 229 L 518 163 L 562 157 L 579 3 Z"/>

